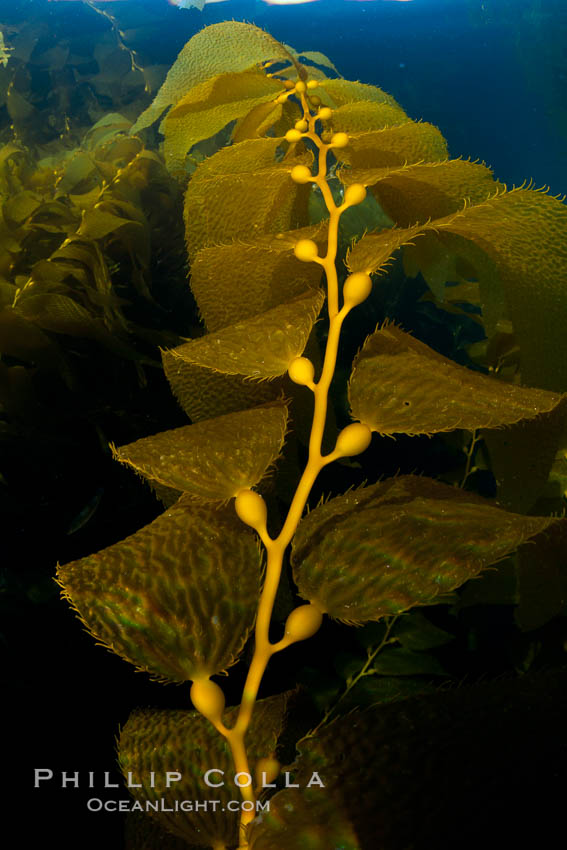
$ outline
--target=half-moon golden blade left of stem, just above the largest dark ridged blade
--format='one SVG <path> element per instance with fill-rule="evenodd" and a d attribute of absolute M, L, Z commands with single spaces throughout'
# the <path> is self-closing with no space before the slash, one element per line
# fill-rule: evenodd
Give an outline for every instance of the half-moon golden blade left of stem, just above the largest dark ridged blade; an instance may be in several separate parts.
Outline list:
<path fill-rule="evenodd" d="M 144 437 L 114 456 L 152 484 L 222 502 L 258 484 L 282 450 L 286 425 L 284 403 L 265 405 Z"/>

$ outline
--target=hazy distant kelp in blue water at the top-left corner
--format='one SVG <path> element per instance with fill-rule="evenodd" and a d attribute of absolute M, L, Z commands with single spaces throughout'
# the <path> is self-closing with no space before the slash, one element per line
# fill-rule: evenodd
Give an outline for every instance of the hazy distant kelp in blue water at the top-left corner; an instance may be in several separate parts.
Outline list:
<path fill-rule="evenodd" d="M 16 0 L 0 25 L 11 48 L 0 68 L 4 141 L 13 132 L 27 147 L 73 147 L 106 113 L 139 112 L 149 84 L 108 13 L 76 3 L 61 15 L 49 3 Z"/>

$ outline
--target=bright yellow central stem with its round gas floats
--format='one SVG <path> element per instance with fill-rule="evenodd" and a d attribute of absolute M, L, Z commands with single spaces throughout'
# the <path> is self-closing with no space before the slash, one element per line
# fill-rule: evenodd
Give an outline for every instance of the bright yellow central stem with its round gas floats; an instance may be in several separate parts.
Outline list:
<path fill-rule="evenodd" d="M 332 148 L 346 147 L 349 143 L 349 137 L 346 133 L 335 133 L 330 143 L 326 144 L 322 141 L 315 130 L 315 126 L 319 118 L 326 120 L 330 117 L 331 111 L 327 107 L 323 107 L 316 113 L 311 112 L 311 106 L 305 93 L 307 89 L 311 90 L 315 87 L 316 81 L 309 81 L 306 85 L 300 80 L 293 89 L 289 89 L 289 94 L 294 94 L 301 100 L 303 118 L 296 122 L 293 129 L 287 131 L 285 138 L 290 143 L 298 142 L 300 139 L 309 139 L 318 150 L 317 172 L 312 174 L 308 168 L 296 166 L 291 171 L 291 178 L 297 183 L 312 181 L 323 196 L 329 212 L 327 252 L 324 257 L 319 256 L 315 242 L 310 239 L 302 239 L 296 243 L 294 254 L 302 262 L 315 262 L 323 267 L 327 280 L 329 333 L 323 368 L 316 383 L 314 381 L 313 364 L 307 358 L 297 357 L 288 367 L 289 376 L 293 381 L 308 386 L 312 390 L 314 412 L 309 438 L 308 461 L 279 535 L 276 538 L 271 538 L 268 535 L 266 506 L 258 493 L 252 490 L 242 490 L 236 498 L 236 511 L 239 517 L 247 525 L 256 529 L 266 548 L 267 555 L 264 587 L 260 596 L 256 619 L 254 655 L 246 677 L 238 717 L 232 729 L 224 727 L 220 718 L 215 723 L 217 729 L 230 745 L 237 773 L 241 771 L 250 773 L 244 738 L 250 725 L 260 683 L 270 658 L 274 653 L 280 652 L 290 644 L 299 640 L 306 640 L 314 635 L 323 619 L 324 612 L 316 605 L 311 603 L 301 605 L 289 615 L 283 638 L 277 643 L 270 642 L 270 622 L 280 583 L 285 551 L 297 530 L 313 484 L 323 467 L 338 457 L 359 454 L 368 447 L 372 438 L 372 432 L 366 425 L 360 422 L 353 423 L 343 429 L 337 440 L 335 450 L 331 454 L 325 456 L 321 451 L 327 419 L 329 388 L 335 373 L 342 323 L 350 309 L 356 303 L 364 300 L 364 297 L 370 291 L 371 282 L 368 275 L 351 275 L 347 279 L 345 300 L 342 309 L 339 311 L 339 286 L 335 265 L 339 219 L 349 206 L 359 204 L 364 200 L 366 190 L 362 184 L 354 184 L 345 193 L 345 202 L 341 206 L 335 204 L 327 182 L 327 153 Z M 285 100 L 288 93 L 280 95 L 277 99 L 278 102 L 282 102 L 281 98 Z M 311 98 L 311 101 L 313 102 L 313 98 Z M 241 788 L 241 793 L 244 800 L 255 801 L 254 791 L 250 787 Z M 243 812 L 241 815 L 240 850 L 248 847 L 246 827 L 253 819 L 253 809 L 249 812 Z"/>

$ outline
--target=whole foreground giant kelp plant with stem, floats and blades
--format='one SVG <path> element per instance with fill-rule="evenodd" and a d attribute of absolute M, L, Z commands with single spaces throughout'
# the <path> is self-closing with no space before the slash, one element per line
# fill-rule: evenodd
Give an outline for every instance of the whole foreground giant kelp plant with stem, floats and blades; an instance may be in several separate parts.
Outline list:
<path fill-rule="evenodd" d="M 400 819 L 392 825 L 407 753 L 397 761 L 385 742 L 406 740 L 400 717 L 419 731 L 424 717 L 468 717 L 478 697 L 434 693 L 400 714 L 395 695 L 386 706 L 375 692 L 346 717 L 333 704 L 302 725 L 301 690 L 258 699 L 270 660 L 327 618 L 375 624 L 365 661 L 345 676 L 346 703 L 363 678 L 386 679 L 403 663 L 413 672 L 412 656 L 443 642 L 413 609 L 455 604 L 458 588 L 500 561 L 515 571 L 521 625 L 565 613 L 566 523 L 540 515 L 546 487 L 564 475 L 565 207 L 449 159 L 436 127 L 374 86 L 326 77 L 334 71 L 251 25 L 214 25 L 186 45 L 132 128 L 168 110 L 166 165 L 188 181 L 191 288 L 206 333 L 164 350 L 163 364 L 192 424 L 115 449 L 166 508 L 58 577 L 101 644 L 160 681 L 192 683 L 194 711 L 135 711 L 121 731 L 133 847 L 433 846 L 415 843 L 415 799 L 404 800 L 405 832 Z M 484 365 L 458 365 L 384 322 L 359 340 L 353 421 L 337 429 L 343 325 L 357 333 L 351 312 L 370 303 L 400 251 L 442 309 L 482 324 L 487 342 L 471 354 Z M 377 481 L 366 465 L 376 483 L 337 485 L 306 513 L 320 473 L 335 464 L 332 480 L 340 463 L 344 481 L 348 458 L 371 457 L 373 433 L 457 430 L 472 434 L 462 486 Z M 496 502 L 465 487 L 481 438 Z M 530 452 L 525 463 L 518 447 Z M 533 591 L 538 570 L 548 581 Z M 284 571 L 296 602 L 282 591 Z M 213 677 L 239 659 L 242 696 L 225 708 Z M 240 816 L 230 810 L 238 793 Z M 213 794 L 218 808 L 207 804 Z M 422 820 L 426 839 L 428 828 Z"/>

